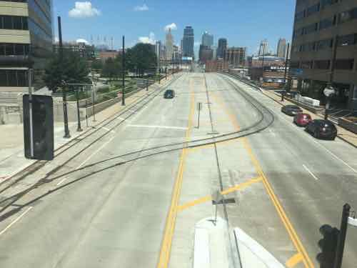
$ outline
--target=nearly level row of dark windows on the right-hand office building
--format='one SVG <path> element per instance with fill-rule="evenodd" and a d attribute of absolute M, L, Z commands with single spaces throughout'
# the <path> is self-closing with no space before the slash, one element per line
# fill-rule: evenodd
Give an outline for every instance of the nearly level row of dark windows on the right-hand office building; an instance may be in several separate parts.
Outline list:
<path fill-rule="evenodd" d="M 337 70 L 353 70 L 355 64 L 354 59 L 336 59 L 335 69 Z M 315 61 L 296 61 L 291 62 L 291 69 L 323 69 L 327 70 L 331 68 L 330 60 L 315 60 Z"/>

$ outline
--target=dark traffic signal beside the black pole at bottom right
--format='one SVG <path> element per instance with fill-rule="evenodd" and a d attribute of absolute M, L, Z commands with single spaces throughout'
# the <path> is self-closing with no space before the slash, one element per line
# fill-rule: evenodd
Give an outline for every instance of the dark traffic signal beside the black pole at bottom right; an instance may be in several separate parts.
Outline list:
<path fill-rule="evenodd" d="M 323 239 L 318 241 L 321 253 L 317 255 L 316 259 L 320 263 L 320 268 L 333 268 L 340 231 L 325 224 L 320 227 L 320 233 L 323 235 Z"/>

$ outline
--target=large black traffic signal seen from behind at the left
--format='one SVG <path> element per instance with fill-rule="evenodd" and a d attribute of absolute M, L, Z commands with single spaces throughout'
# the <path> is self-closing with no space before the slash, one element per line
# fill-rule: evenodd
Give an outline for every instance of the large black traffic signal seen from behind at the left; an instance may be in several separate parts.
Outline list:
<path fill-rule="evenodd" d="M 54 159 L 54 101 L 51 96 L 32 95 L 32 126 L 30 118 L 30 96 L 25 94 L 24 144 L 27 159 Z M 32 142 L 31 142 L 32 129 Z M 31 156 L 31 144 L 33 156 Z"/>

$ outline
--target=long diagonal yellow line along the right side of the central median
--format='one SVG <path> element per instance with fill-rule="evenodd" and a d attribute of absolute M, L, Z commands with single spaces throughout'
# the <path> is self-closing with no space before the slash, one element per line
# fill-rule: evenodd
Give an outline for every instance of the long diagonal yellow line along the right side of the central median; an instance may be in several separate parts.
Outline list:
<path fill-rule="evenodd" d="M 214 97 L 221 105 L 221 108 L 226 111 L 226 114 L 228 114 L 229 118 L 232 121 L 232 124 L 236 127 L 236 129 L 239 129 L 239 124 L 236 119 L 236 116 L 233 116 L 233 114 L 231 114 L 226 109 L 226 106 L 223 104 L 223 102 L 221 100 L 219 100 L 216 96 L 214 96 Z M 268 193 L 268 196 L 271 198 L 271 201 L 273 202 L 273 205 L 276 208 L 276 211 L 278 212 L 278 215 L 281 218 L 281 222 L 283 222 L 283 225 L 284 225 L 286 231 L 288 232 L 288 235 L 291 238 L 293 245 L 296 247 L 296 250 L 298 251 L 298 253 L 300 253 L 302 255 L 303 264 L 305 265 L 305 267 L 313 268 L 314 267 L 313 262 L 311 261 L 310 257 L 308 256 L 308 254 L 306 252 L 305 247 L 303 247 L 303 244 L 301 243 L 300 239 L 298 238 L 298 235 L 296 234 L 296 231 L 293 228 L 293 224 L 291 224 L 290 220 L 288 219 L 288 216 L 286 215 L 286 212 L 284 211 L 283 207 L 281 206 L 281 204 L 278 200 L 278 197 L 276 197 L 276 194 L 273 192 L 273 188 L 271 187 L 271 184 L 269 184 L 268 179 L 266 179 L 266 176 L 263 173 L 263 169 L 261 168 L 260 164 L 258 163 L 258 160 L 256 159 L 256 157 L 254 157 L 251 147 L 248 144 L 248 139 L 243 138 L 243 144 L 251 158 L 251 162 L 253 163 L 254 167 L 256 168 L 256 172 L 258 172 L 258 175 L 263 178 L 263 184 L 266 189 L 266 192 Z"/>

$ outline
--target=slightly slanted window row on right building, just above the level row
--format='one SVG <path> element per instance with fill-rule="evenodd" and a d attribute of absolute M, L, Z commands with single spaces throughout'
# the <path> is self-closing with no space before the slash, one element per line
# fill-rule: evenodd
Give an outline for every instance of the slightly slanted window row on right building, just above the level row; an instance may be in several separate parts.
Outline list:
<path fill-rule="evenodd" d="M 357 44 L 357 33 L 338 36 L 337 38 L 337 46 L 353 46 L 355 44 Z M 311 52 L 332 49 L 332 47 L 333 39 L 323 39 L 307 44 L 301 44 L 300 46 L 293 46 L 292 50 L 293 52 Z"/>

